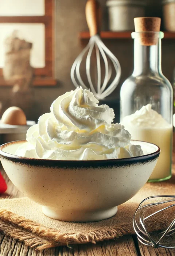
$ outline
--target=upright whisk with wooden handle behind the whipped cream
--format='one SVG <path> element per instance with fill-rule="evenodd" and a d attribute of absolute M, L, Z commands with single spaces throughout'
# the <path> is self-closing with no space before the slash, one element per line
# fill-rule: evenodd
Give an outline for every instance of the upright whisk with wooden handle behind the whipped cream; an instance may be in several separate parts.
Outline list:
<path fill-rule="evenodd" d="M 113 92 L 117 87 L 121 76 L 121 67 L 118 59 L 113 53 L 105 46 L 100 39 L 99 32 L 99 20 L 100 20 L 100 5 L 96 0 L 88 0 L 86 3 L 86 20 L 90 31 L 90 40 L 88 45 L 82 51 L 82 53 L 75 59 L 71 68 L 71 79 L 75 87 L 82 86 L 83 89 L 89 89 L 93 92 L 99 100 L 104 99 Z M 90 72 L 91 58 L 93 51 L 96 53 L 96 64 L 97 64 L 97 84 L 94 85 L 92 82 L 92 76 Z M 83 58 L 86 57 L 86 75 L 88 80 L 87 84 L 83 82 L 80 74 L 80 66 Z M 101 59 L 104 62 L 105 72 L 104 79 L 102 79 L 101 71 Z M 112 77 L 113 69 L 116 73 L 115 78 L 109 84 L 109 80 Z M 97 86 L 97 91 L 95 89 Z"/>

